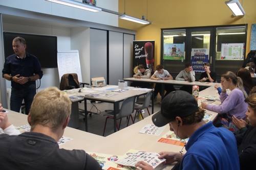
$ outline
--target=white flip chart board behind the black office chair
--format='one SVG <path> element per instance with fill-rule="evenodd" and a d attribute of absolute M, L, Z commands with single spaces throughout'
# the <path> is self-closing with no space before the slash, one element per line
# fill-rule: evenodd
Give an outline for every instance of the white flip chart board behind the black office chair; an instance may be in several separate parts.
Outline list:
<path fill-rule="evenodd" d="M 59 81 L 65 74 L 76 73 L 78 82 L 82 82 L 82 74 L 78 50 L 58 51 Z"/>

